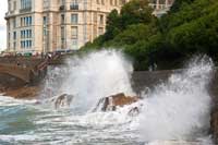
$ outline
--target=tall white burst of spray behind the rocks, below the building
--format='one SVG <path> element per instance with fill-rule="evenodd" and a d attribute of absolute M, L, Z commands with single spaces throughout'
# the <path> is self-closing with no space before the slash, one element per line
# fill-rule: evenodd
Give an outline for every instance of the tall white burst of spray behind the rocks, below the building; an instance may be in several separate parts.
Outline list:
<path fill-rule="evenodd" d="M 74 95 L 72 108 L 87 111 L 100 98 L 125 93 L 133 95 L 131 74 L 133 67 L 123 53 L 102 50 L 68 60 L 69 72 L 61 85 L 61 93 Z"/>

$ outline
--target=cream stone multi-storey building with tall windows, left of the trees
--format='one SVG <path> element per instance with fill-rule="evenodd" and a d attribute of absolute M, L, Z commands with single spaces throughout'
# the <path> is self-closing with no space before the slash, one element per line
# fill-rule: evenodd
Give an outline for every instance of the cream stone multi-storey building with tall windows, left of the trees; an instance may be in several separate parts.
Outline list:
<path fill-rule="evenodd" d="M 104 34 L 107 14 L 113 9 L 120 11 L 128 1 L 8 0 L 7 50 L 21 53 L 77 50 Z M 158 9 L 155 3 L 152 7 Z"/>

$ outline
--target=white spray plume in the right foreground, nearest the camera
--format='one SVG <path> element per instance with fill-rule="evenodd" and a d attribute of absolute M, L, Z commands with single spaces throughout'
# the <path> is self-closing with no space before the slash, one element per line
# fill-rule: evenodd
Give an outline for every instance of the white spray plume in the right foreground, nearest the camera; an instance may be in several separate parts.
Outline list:
<path fill-rule="evenodd" d="M 193 140 L 208 133 L 211 100 L 207 85 L 213 68 L 210 59 L 197 57 L 146 94 L 140 114 L 143 140 Z"/>

